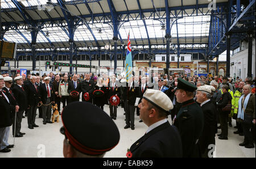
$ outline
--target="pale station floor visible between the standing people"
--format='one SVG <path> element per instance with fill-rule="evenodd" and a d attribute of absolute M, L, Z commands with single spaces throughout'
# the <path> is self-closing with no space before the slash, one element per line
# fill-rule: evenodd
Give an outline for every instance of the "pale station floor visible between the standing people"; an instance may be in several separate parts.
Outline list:
<path fill-rule="evenodd" d="M 62 106 L 61 106 L 62 107 Z M 109 114 L 108 105 L 105 105 L 104 110 Z M 143 122 L 139 122 L 139 117 L 135 115 L 135 130 L 123 129 L 125 126 L 125 116 L 123 108 L 118 107 L 118 115 L 115 123 L 120 132 L 120 141 L 118 145 L 111 151 L 105 154 L 105 157 L 126 157 L 127 149 L 137 141 L 147 130 L 147 126 Z M 169 121 L 171 118 L 169 116 Z M 43 125 L 42 119 L 36 117 L 38 128 L 28 129 L 27 118 L 22 119 L 21 132 L 26 133 L 24 137 L 15 138 L 15 147 L 10 153 L 0 153 L 1 157 L 63 157 L 63 140 L 64 136 L 60 134 L 59 129 L 62 122 Z M 235 121 L 233 121 L 233 126 Z M 11 129 L 12 130 L 12 129 Z M 9 143 L 13 144 L 14 138 L 11 134 Z M 216 136 L 216 152 L 213 157 L 254 157 L 255 148 L 246 149 L 238 146 L 243 142 L 243 137 L 238 134 L 233 134 L 236 129 L 229 128 L 229 140 L 218 140 Z M 220 132 L 220 130 L 219 130 Z M 102 140 L 103 142 L 103 140 Z M 43 151 L 45 150 L 45 151 Z M 42 152 L 45 152 L 42 153 Z"/>

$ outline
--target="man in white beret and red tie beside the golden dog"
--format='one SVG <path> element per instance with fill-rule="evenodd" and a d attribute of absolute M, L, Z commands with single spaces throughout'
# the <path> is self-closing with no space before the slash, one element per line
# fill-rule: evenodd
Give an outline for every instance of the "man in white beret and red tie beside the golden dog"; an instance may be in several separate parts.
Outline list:
<path fill-rule="evenodd" d="M 52 104 L 54 102 L 54 94 L 52 85 L 49 84 L 51 81 L 50 77 L 44 78 L 44 84 L 39 87 L 40 92 L 40 104 L 42 104 L 42 116 L 43 116 L 43 124 L 45 125 L 47 122 L 52 123 L 51 121 L 51 109 Z"/>

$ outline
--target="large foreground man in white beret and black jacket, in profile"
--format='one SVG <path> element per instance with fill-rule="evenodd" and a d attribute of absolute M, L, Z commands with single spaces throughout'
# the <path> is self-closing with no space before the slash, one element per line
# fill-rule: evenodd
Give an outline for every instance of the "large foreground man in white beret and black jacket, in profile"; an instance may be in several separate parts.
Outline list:
<path fill-rule="evenodd" d="M 171 126 L 166 116 L 174 108 L 162 91 L 148 89 L 139 104 L 140 116 L 148 126 L 146 134 L 130 147 L 130 157 L 182 157 L 179 131 Z"/>

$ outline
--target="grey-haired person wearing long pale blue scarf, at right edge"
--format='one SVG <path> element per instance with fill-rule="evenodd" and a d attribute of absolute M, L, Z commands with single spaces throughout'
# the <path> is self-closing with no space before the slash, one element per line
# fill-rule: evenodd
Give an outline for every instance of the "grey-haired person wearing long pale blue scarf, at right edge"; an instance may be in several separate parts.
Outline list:
<path fill-rule="evenodd" d="M 240 146 L 246 148 L 254 148 L 253 134 L 250 132 L 253 123 L 255 125 L 255 95 L 251 94 L 251 87 L 249 84 L 243 86 L 243 95 L 238 101 L 238 115 L 237 121 L 241 122 L 243 128 L 244 141 Z"/>

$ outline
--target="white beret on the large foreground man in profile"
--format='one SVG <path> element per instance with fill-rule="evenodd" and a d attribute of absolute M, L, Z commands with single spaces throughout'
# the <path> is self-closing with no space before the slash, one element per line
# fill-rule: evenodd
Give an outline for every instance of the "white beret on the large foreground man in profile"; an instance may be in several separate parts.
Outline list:
<path fill-rule="evenodd" d="M 174 108 L 171 99 L 164 94 L 164 92 L 154 89 L 147 89 L 143 95 L 143 99 L 146 99 L 151 104 L 162 109 L 163 111 L 169 111 Z"/>

